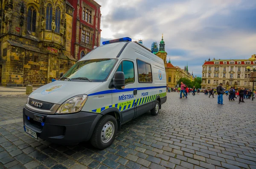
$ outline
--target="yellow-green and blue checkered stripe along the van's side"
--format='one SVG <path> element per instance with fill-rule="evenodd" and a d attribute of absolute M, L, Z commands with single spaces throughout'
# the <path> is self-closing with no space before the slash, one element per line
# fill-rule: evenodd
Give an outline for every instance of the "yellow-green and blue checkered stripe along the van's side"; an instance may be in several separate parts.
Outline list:
<path fill-rule="evenodd" d="M 137 103 L 137 106 L 141 105 L 141 104 L 145 104 L 148 103 L 149 101 L 153 101 L 156 99 L 157 96 L 160 96 L 160 98 L 163 98 L 166 96 L 166 92 L 165 93 L 160 93 L 160 94 L 155 94 L 155 95 L 151 95 L 151 96 L 146 96 L 140 99 L 134 99 L 134 100 L 130 100 L 130 101 L 124 101 L 121 103 L 117 103 L 117 104 L 112 104 L 109 106 L 105 106 L 105 107 L 101 107 L 95 110 L 91 110 L 91 112 L 93 113 L 101 113 L 102 111 L 111 108 L 111 107 L 116 107 L 119 111 L 123 111 L 126 109 L 129 109 L 131 107 L 134 107 L 134 104 Z"/>

